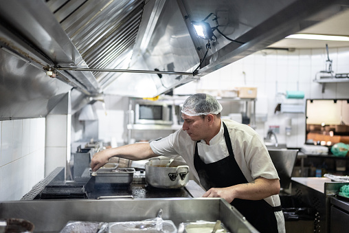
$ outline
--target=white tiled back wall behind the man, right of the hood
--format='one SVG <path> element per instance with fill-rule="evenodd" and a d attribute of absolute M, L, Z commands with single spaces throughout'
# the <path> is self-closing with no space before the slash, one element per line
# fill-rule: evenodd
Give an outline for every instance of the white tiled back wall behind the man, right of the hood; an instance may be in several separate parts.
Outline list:
<path fill-rule="evenodd" d="M 335 73 L 349 73 L 349 47 L 333 48 L 329 52 Z M 324 93 L 322 85 L 313 82 L 317 72 L 326 69 L 326 59 L 325 49 L 296 49 L 294 52 L 264 50 L 207 74 L 199 81 L 183 85 L 174 93 L 191 94 L 196 89 L 258 87 L 257 109 L 267 109 L 267 122 L 259 122 L 256 131 L 265 137 L 269 126 L 279 125 L 279 142 L 299 148 L 305 142 L 305 114 L 275 114 L 279 100 L 277 93 L 304 91 L 304 99 L 349 98 L 349 82 L 327 83 Z M 291 118 L 292 132 L 286 136 L 284 127 L 287 118 Z"/>

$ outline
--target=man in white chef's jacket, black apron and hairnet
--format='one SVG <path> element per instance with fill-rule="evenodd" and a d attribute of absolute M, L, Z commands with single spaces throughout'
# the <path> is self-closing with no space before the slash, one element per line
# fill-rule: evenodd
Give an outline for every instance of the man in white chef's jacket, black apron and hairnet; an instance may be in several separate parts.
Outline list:
<path fill-rule="evenodd" d="M 132 160 L 181 155 L 207 191 L 239 210 L 260 232 L 285 232 L 278 173 L 250 126 L 221 119 L 216 98 L 197 93 L 182 108 L 182 129 L 159 141 L 109 148 L 91 160 L 93 171 L 113 157 Z"/>

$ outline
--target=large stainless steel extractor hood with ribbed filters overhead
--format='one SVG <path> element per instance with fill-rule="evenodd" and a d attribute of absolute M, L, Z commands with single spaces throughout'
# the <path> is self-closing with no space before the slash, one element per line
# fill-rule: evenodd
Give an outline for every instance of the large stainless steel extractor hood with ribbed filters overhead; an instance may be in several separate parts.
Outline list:
<path fill-rule="evenodd" d="M 5 90 L 0 118 L 45 115 L 71 88 L 86 104 L 104 93 L 157 96 L 348 5 L 348 0 L 0 0 Z M 214 30 L 208 51 L 207 40 L 196 38 L 192 26 L 207 16 L 222 32 Z M 22 111 L 23 103 L 34 108 Z"/>

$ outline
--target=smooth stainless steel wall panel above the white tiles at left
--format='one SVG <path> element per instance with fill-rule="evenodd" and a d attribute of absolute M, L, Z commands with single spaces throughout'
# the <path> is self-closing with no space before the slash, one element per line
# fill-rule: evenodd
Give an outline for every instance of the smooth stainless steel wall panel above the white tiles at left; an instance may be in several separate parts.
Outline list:
<path fill-rule="evenodd" d="M 0 120 L 45 117 L 71 86 L 0 49 Z"/>

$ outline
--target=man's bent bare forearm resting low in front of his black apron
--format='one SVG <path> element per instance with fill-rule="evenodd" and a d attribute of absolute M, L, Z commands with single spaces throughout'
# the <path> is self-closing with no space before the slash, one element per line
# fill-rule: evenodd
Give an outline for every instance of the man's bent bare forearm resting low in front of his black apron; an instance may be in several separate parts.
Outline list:
<path fill-rule="evenodd" d="M 266 179 L 258 177 L 246 184 L 238 184 L 227 188 L 211 188 L 203 197 L 222 197 L 231 203 L 234 199 L 261 200 L 280 192 L 279 179 Z"/>

